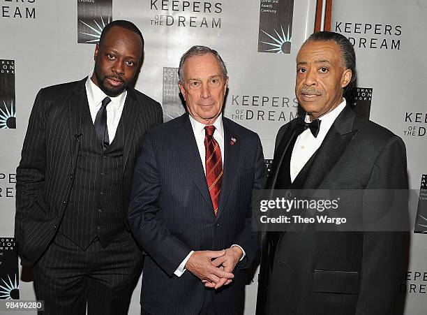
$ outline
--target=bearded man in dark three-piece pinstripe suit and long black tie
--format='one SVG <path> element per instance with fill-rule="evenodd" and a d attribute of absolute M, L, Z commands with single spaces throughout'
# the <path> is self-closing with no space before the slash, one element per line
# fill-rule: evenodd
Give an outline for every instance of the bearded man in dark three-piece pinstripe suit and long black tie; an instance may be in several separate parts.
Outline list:
<path fill-rule="evenodd" d="M 15 237 L 44 314 L 127 314 L 142 270 L 129 230 L 135 160 L 160 104 L 128 84 L 144 39 L 108 24 L 93 73 L 41 89 L 17 168 Z"/>

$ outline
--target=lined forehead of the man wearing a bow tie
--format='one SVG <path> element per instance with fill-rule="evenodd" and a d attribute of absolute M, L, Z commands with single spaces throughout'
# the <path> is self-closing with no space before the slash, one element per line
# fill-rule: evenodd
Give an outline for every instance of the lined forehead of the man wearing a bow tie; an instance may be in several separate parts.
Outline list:
<path fill-rule="evenodd" d="M 301 46 L 297 55 L 297 64 L 316 61 L 340 64 L 341 60 L 340 48 L 334 41 L 310 41 Z"/>

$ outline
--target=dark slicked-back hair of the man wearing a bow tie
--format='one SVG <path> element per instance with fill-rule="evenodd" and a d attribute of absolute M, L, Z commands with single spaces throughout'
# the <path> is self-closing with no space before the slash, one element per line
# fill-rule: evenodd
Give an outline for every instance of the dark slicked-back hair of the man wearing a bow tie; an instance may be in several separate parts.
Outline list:
<path fill-rule="evenodd" d="M 344 87 L 344 95 L 351 93 L 354 85 L 356 85 L 356 54 L 354 53 L 354 47 L 352 43 L 347 39 L 347 37 L 335 33 L 334 31 L 317 31 L 310 35 L 307 40 L 304 42 L 319 42 L 319 41 L 334 41 L 341 52 L 341 59 L 343 59 L 343 64 L 346 69 L 352 71 L 352 80 L 348 83 L 347 87 Z M 303 45 L 304 45 L 303 44 Z"/>

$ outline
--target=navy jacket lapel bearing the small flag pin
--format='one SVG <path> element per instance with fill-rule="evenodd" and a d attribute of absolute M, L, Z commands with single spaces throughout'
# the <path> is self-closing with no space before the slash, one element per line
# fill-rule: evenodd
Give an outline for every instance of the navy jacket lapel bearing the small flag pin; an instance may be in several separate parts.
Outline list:
<path fill-rule="evenodd" d="M 234 172 L 237 170 L 239 164 L 239 152 L 240 152 L 240 141 L 239 135 L 234 133 L 234 130 L 227 122 L 227 119 L 223 118 L 224 126 L 224 173 L 223 173 L 223 184 L 221 186 L 219 209 L 216 219 L 220 217 L 221 213 L 225 208 L 228 196 L 233 185 Z M 233 140 L 232 140 L 233 138 Z"/>

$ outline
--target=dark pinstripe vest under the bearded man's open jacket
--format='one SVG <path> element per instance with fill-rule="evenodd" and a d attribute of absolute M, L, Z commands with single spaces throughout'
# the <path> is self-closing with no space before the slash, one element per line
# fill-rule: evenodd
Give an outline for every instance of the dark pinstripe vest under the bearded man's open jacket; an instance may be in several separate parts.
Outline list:
<path fill-rule="evenodd" d="M 123 115 L 110 146 L 96 138 L 89 105 L 82 104 L 82 136 L 70 200 L 59 232 L 82 249 L 98 237 L 103 247 L 125 230 L 121 200 Z"/>

